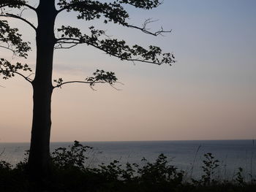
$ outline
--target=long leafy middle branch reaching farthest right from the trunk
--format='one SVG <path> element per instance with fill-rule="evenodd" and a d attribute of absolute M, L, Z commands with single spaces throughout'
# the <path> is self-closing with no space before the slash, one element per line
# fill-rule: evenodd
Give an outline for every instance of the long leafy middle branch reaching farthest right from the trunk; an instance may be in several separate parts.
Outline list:
<path fill-rule="evenodd" d="M 71 26 L 61 26 L 57 30 L 61 32 L 61 38 L 56 39 L 56 49 L 71 48 L 79 44 L 87 44 L 104 51 L 110 56 L 114 56 L 126 61 L 139 61 L 148 64 L 169 64 L 175 63 L 172 53 L 162 53 L 161 48 L 150 45 L 148 49 L 139 45 L 129 47 L 124 40 L 102 38 L 105 31 L 97 30 L 94 26 L 89 27 L 91 35 L 82 34 L 80 29 Z M 68 45 L 68 46 L 66 46 Z"/>

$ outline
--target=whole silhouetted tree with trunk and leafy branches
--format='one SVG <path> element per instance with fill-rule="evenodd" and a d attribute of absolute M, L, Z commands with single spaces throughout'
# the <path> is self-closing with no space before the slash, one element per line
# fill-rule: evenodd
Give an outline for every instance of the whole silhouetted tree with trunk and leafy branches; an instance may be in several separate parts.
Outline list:
<path fill-rule="evenodd" d="M 79 28 L 72 26 L 58 28 L 59 38 L 54 33 L 56 16 L 64 11 L 76 12 L 78 20 L 89 21 L 102 18 L 105 24 L 116 23 L 119 26 L 135 28 L 153 36 L 170 32 L 164 31 L 163 28 L 156 32 L 148 31 L 146 26 L 152 20 L 146 20 L 142 27 L 130 25 L 127 22 L 129 13 L 124 9 L 125 4 L 141 9 L 153 9 L 158 7 L 161 2 L 159 0 L 113 0 L 110 3 L 93 0 L 59 0 L 58 2 L 39 0 L 38 6 L 33 7 L 26 0 L 0 0 L 1 48 L 10 50 L 14 55 L 21 58 L 26 58 L 29 50 L 31 50 L 30 43 L 23 42 L 18 28 L 11 28 L 8 20 L 4 20 L 4 18 L 22 20 L 36 32 L 37 60 L 34 79 L 31 79 L 31 75 L 23 74 L 23 72 L 31 72 L 31 68 L 27 64 L 11 64 L 4 58 L 0 59 L 0 75 L 5 80 L 18 74 L 31 83 L 33 87 L 33 121 L 28 164 L 29 173 L 33 177 L 46 177 L 50 170 L 50 101 L 53 89 L 73 82 L 86 83 L 93 87 L 97 83 L 113 85 L 117 81 L 115 73 L 99 69 L 94 72 L 93 76 L 82 81 L 64 82 L 61 78 L 52 80 L 54 50 L 85 44 L 122 61 L 137 61 L 157 65 L 171 65 L 175 62 L 173 54 L 162 53 L 159 47 L 151 45 L 146 49 L 140 45 L 129 46 L 124 40 L 111 39 L 106 36 L 105 31 L 94 26 L 89 28 L 90 34 L 83 34 Z M 17 9 L 19 14 L 15 14 L 14 9 Z M 27 18 L 23 18 L 24 9 L 31 9 L 36 12 L 37 26 L 34 26 Z M 56 85 L 53 85 L 53 82 Z"/>

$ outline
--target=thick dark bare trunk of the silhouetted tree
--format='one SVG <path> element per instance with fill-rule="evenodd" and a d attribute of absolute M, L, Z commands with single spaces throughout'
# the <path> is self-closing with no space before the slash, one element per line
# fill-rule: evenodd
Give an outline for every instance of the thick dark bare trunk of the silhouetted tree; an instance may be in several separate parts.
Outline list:
<path fill-rule="evenodd" d="M 40 0 L 37 7 L 37 64 L 33 85 L 33 122 L 29 152 L 29 174 L 47 179 L 50 172 L 50 101 L 53 92 L 53 47 L 55 0 Z"/>

